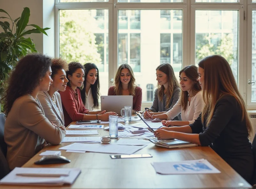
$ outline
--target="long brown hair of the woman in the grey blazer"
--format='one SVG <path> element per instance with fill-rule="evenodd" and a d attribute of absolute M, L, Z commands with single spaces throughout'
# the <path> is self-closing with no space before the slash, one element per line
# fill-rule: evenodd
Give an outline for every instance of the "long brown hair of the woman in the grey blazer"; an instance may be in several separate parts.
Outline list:
<path fill-rule="evenodd" d="M 171 64 L 160 64 L 159 66 L 157 66 L 156 70 L 164 72 L 167 75 L 168 87 L 167 87 L 167 92 L 166 92 L 166 97 L 167 98 L 166 98 L 165 108 L 168 109 L 169 108 L 169 103 L 172 99 L 172 94 L 173 94 L 174 87 L 180 88 L 180 84 L 179 84 L 177 78 L 174 75 L 174 71 L 172 69 Z M 164 85 L 160 86 L 157 83 L 157 87 L 158 87 L 158 98 L 161 102 L 163 102 L 163 99 L 164 99 Z"/>

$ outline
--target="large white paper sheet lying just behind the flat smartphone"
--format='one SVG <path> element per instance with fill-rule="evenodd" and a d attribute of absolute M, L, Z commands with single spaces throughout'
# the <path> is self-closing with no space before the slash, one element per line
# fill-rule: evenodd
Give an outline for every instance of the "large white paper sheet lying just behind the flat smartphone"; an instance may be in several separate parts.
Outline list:
<path fill-rule="evenodd" d="M 99 152 L 108 154 L 133 154 L 145 146 L 128 146 L 117 144 L 84 144 L 73 143 L 68 146 L 60 147 L 60 150 L 78 150 L 87 152 Z"/>

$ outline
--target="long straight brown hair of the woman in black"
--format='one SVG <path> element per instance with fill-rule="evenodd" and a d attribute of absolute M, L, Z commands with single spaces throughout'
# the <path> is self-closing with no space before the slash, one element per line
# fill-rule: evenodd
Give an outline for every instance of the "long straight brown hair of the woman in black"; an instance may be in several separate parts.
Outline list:
<path fill-rule="evenodd" d="M 234 96 L 241 107 L 241 121 L 245 119 L 245 124 L 250 135 L 252 133 L 252 123 L 227 60 L 219 55 L 212 55 L 205 57 L 198 65 L 204 69 L 203 100 L 205 105 L 202 111 L 202 123 L 204 123 L 206 117 L 206 125 L 210 123 L 216 102 L 221 96 L 229 94 Z"/>

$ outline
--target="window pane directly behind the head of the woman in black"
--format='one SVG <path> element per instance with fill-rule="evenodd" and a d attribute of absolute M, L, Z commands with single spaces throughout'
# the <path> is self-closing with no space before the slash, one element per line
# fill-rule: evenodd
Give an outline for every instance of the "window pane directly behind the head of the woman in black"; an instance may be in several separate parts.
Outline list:
<path fill-rule="evenodd" d="M 209 55 L 225 57 L 237 82 L 238 11 L 196 10 L 196 63 Z"/>

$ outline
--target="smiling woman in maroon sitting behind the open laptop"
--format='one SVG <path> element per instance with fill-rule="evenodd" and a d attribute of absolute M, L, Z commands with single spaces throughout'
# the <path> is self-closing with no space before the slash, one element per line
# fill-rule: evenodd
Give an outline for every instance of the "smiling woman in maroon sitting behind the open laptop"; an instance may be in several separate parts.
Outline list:
<path fill-rule="evenodd" d="M 132 114 L 140 111 L 142 90 L 135 84 L 135 77 L 129 64 L 119 66 L 115 76 L 115 84 L 108 89 L 108 95 L 132 95 Z"/>

